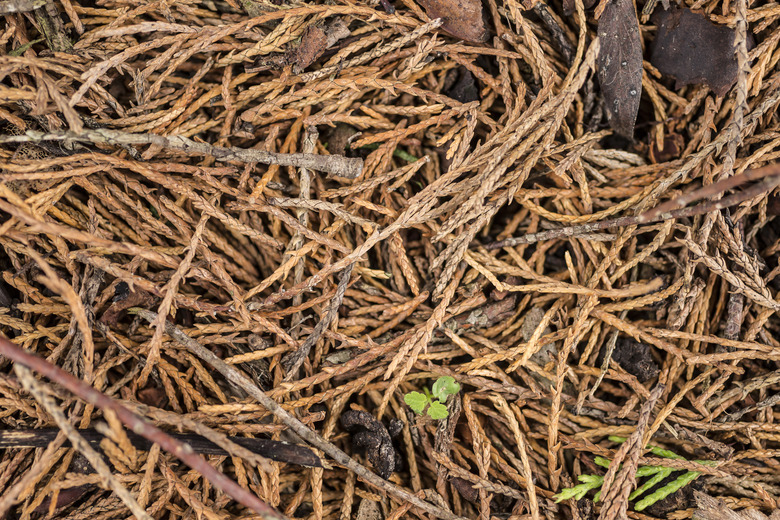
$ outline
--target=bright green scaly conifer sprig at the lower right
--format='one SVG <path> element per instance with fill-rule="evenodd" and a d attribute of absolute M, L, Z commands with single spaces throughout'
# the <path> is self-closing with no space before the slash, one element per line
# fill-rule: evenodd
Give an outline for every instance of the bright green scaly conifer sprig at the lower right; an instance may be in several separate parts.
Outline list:
<path fill-rule="evenodd" d="M 610 436 L 609 440 L 617 443 L 622 443 L 626 441 L 625 437 L 616 437 L 616 436 Z M 672 451 L 665 450 L 663 448 L 658 448 L 656 446 L 648 446 L 647 449 L 649 449 L 650 452 L 653 455 L 656 455 L 657 457 L 663 457 L 666 459 L 687 460 L 684 457 L 681 457 L 680 455 L 677 455 Z M 604 468 L 609 468 L 609 465 L 611 463 L 609 459 L 605 459 L 604 457 L 596 457 L 594 462 Z M 715 462 L 711 460 L 695 460 L 694 462 L 698 462 L 699 464 L 703 464 L 706 466 L 715 465 Z M 636 500 L 641 495 L 645 494 L 647 491 L 650 491 L 655 486 L 657 486 L 662 480 L 666 479 L 674 471 L 675 470 L 673 468 L 667 468 L 664 466 L 641 466 L 637 468 L 636 478 L 645 478 L 645 477 L 650 477 L 650 478 L 648 478 L 647 481 L 645 481 L 640 487 L 638 487 L 633 493 L 631 493 L 628 499 L 630 501 Z M 675 491 L 690 484 L 691 482 L 696 480 L 699 477 L 699 475 L 701 475 L 701 472 L 699 471 L 686 471 L 685 473 L 677 477 L 677 479 L 656 489 L 649 495 L 645 496 L 642 500 L 634 504 L 634 510 L 642 511 L 650 507 L 651 505 L 655 504 L 659 500 L 663 500 L 664 498 L 668 497 Z M 563 500 L 568 500 L 570 498 L 579 500 L 583 498 L 589 491 L 599 489 L 604 483 L 604 477 L 599 475 L 580 475 L 579 477 L 577 477 L 577 479 L 581 482 L 581 484 L 578 484 L 574 487 L 565 488 L 561 490 L 561 492 L 558 493 L 557 495 L 554 495 L 553 498 L 555 498 L 556 502 L 561 502 Z M 594 502 L 598 502 L 600 498 L 601 498 L 601 491 L 599 490 L 596 493 L 596 495 L 593 497 L 593 500 Z"/>

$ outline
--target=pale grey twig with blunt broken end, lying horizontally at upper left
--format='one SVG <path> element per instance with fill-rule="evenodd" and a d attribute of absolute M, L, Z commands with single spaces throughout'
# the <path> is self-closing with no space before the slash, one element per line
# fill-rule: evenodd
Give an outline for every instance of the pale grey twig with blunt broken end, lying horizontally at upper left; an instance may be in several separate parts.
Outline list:
<path fill-rule="evenodd" d="M 214 146 L 199 143 L 188 137 L 156 134 L 131 134 L 118 130 L 98 128 L 84 129 L 82 132 L 37 132 L 28 130 L 22 135 L 0 136 L 0 144 L 39 143 L 42 141 L 64 141 L 94 143 L 120 146 L 156 145 L 168 150 L 180 150 L 191 155 L 210 155 L 218 161 L 238 161 L 243 163 L 277 164 L 295 166 L 332 173 L 339 177 L 354 179 L 363 169 L 363 160 L 342 155 L 316 155 L 307 153 L 274 153 L 263 150 L 237 147 Z"/>

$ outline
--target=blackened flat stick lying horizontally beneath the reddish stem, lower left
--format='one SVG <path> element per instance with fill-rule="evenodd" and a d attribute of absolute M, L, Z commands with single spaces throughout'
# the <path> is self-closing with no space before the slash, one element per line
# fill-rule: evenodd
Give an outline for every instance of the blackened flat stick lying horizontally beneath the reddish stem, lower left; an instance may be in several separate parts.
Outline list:
<path fill-rule="evenodd" d="M 0 430 L 0 449 L 4 448 L 45 448 L 59 433 L 58 428 L 35 428 L 29 430 Z M 90 444 L 100 446 L 100 441 L 105 437 L 97 430 L 78 430 Z M 152 442 L 140 435 L 128 431 L 125 432 L 130 443 L 139 450 L 148 451 Z M 192 451 L 201 455 L 228 455 L 228 452 L 200 435 L 190 433 L 168 433 L 174 439 L 189 444 Z M 232 442 L 244 448 L 277 462 L 297 464 L 312 468 L 321 468 L 322 462 L 312 450 L 306 446 L 290 444 L 269 439 L 249 439 L 247 437 L 228 437 Z M 70 442 L 65 441 L 63 448 L 70 447 Z"/>

